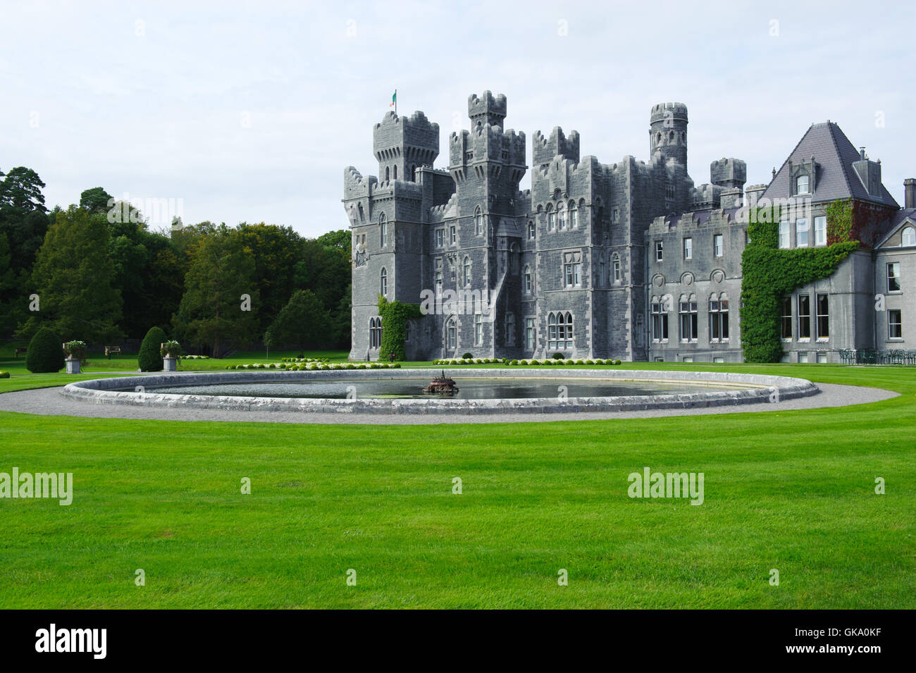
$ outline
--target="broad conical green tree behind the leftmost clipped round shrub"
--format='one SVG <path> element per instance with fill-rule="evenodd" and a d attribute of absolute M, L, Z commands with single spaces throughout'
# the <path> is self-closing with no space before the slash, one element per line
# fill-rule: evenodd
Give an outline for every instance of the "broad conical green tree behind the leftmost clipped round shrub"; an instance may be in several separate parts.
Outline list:
<path fill-rule="evenodd" d="M 66 341 L 98 342 L 120 334 L 121 293 L 113 287 L 103 217 L 71 206 L 60 212 L 38 250 L 32 284 L 39 310 L 20 328 L 30 336 L 49 327 Z"/>

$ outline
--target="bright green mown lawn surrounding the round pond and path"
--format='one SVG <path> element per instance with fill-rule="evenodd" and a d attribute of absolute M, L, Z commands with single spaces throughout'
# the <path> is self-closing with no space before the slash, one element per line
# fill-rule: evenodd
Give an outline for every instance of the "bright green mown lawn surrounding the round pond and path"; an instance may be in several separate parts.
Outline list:
<path fill-rule="evenodd" d="M 75 491 L 0 500 L 0 607 L 916 607 L 916 369 L 623 366 L 901 395 L 518 425 L 0 413 L 0 472 L 73 472 Z M 20 368 L 0 390 L 67 380 Z M 703 505 L 627 497 L 644 466 L 703 472 Z"/>

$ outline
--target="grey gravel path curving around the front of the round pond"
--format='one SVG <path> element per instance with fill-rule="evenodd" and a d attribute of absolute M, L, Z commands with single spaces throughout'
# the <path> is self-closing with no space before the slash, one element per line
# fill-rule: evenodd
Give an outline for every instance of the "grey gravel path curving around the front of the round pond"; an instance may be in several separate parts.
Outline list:
<path fill-rule="evenodd" d="M 442 415 L 379 416 L 366 414 L 301 414 L 283 411 L 224 411 L 219 409 L 181 409 L 162 407 L 128 407 L 93 405 L 60 395 L 61 388 L 39 388 L 0 395 L 0 411 L 16 411 L 42 416 L 76 416 L 82 418 L 141 418 L 163 420 L 253 421 L 259 423 L 365 423 L 369 425 L 431 425 L 436 423 L 518 423 L 555 420 L 602 420 L 609 418 L 661 418 L 707 414 L 743 414 L 753 411 L 780 411 L 845 407 L 897 397 L 890 390 L 859 385 L 818 384 L 821 393 L 776 404 L 744 404 L 734 407 L 685 409 L 651 409 L 610 413 L 581 412 L 573 414 L 496 414 L 493 416 Z"/>

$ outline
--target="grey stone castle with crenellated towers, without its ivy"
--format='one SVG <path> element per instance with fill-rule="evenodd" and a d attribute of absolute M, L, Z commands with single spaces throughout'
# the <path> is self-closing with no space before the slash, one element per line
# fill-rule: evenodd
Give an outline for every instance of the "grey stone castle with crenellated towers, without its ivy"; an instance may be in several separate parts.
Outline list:
<path fill-rule="evenodd" d="M 843 198 L 869 214 L 867 245 L 783 299 L 786 359 L 838 362 L 844 349 L 914 342 L 916 180 L 906 181 L 901 209 L 880 162 L 837 125 L 812 125 L 769 185 L 745 189 L 745 162 L 722 158 L 710 183 L 695 187 L 687 107 L 660 103 L 649 117 L 648 162 L 580 157 L 579 134 L 557 127 L 535 133 L 531 189 L 519 190 L 525 134 L 506 130 L 506 97 L 474 94 L 468 115 L 471 130 L 449 137 L 447 170 L 432 168 L 439 125 L 417 112 L 375 125 L 377 179 L 344 171 L 352 360 L 385 355 L 382 295 L 424 308 L 409 321 L 410 360 L 563 353 L 741 362 L 747 204 L 791 204 L 780 246 L 815 246 L 826 244 L 824 207 Z"/>

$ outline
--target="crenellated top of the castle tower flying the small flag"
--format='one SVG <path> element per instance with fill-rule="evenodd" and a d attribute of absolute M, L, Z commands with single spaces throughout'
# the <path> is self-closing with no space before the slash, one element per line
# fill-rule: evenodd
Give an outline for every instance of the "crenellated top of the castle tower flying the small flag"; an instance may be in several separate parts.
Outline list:
<path fill-rule="evenodd" d="M 417 168 L 432 166 L 439 156 L 439 125 L 415 112 L 398 117 L 389 112 L 372 129 L 372 145 L 378 160 L 378 181 L 416 179 Z"/>

